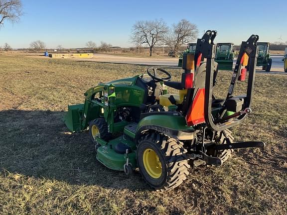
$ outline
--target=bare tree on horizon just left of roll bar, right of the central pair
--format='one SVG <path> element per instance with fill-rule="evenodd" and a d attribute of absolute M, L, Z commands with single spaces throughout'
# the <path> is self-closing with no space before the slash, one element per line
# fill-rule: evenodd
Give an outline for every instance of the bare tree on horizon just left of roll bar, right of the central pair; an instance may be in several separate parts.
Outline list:
<path fill-rule="evenodd" d="M 177 24 L 172 25 L 165 42 L 173 50 L 175 57 L 179 47 L 195 40 L 197 36 L 198 28 L 196 24 L 190 23 L 186 19 L 181 19 Z"/>

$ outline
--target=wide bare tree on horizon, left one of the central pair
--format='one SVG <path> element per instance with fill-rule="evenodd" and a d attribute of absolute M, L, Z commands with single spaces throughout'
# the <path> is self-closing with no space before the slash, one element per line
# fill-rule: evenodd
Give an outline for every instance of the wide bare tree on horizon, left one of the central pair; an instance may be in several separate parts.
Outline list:
<path fill-rule="evenodd" d="M 147 44 L 149 56 L 152 56 L 152 48 L 162 41 L 167 32 L 168 27 L 162 19 L 138 21 L 132 27 L 131 40 L 137 46 Z"/>

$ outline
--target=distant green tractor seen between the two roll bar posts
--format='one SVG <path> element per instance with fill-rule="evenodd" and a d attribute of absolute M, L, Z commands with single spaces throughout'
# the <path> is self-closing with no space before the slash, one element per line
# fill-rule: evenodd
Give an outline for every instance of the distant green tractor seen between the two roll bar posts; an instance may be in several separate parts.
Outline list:
<path fill-rule="evenodd" d="M 232 70 L 233 66 L 233 43 L 217 43 L 215 62 L 219 70 Z"/>

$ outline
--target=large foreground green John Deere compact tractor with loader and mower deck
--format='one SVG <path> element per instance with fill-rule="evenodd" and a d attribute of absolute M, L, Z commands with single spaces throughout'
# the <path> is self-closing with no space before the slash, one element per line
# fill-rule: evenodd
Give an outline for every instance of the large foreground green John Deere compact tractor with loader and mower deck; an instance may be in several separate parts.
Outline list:
<path fill-rule="evenodd" d="M 233 149 L 263 148 L 259 141 L 234 142 L 228 129 L 251 113 L 258 36 L 242 42 L 227 96 L 216 99 L 216 34 L 206 31 L 195 53 L 183 55 L 181 81 L 171 81 L 161 68 L 148 68 L 147 75 L 99 84 L 84 94 L 84 104 L 68 106 L 67 127 L 89 130 L 100 163 L 127 175 L 137 169 L 160 191 L 180 185 L 191 166 L 221 166 Z M 235 96 L 248 58 L 247 94 Z M 168 94 L 165 86 L 178 94 Z"/>

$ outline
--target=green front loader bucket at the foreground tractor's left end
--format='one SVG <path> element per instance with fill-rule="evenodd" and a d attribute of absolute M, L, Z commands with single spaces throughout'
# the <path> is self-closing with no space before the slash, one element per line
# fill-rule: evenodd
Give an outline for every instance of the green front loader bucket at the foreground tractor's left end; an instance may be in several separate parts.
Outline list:
<path fill-rule="evenodd" d="M 80 132 L 82 130 L 83 110 L 84 104 L 68 106 L 68 112 L 64 116 L 64 121 L 70 131 Z"/>

